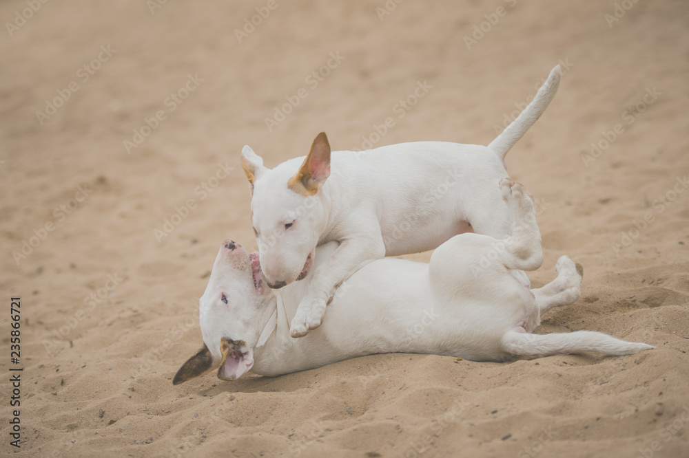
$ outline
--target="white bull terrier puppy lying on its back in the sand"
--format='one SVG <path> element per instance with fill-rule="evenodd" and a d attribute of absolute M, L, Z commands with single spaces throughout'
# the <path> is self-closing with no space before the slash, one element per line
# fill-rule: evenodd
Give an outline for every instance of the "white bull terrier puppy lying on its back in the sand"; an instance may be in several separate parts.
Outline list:
<path fill-rule="evenodd" d="M 308 285 L 293 283 L 278 292 L 263 287 L 258 255 L 223 242 L 200 299 L 204 346 L 173 383 L 218 367 L 219 378 L 232 380 L 249 370 L 273 376 L 371 353 L 503 361 L 580 351 L 619 356 L 653 348 L 591 331 L 531 334 L 543 312 L 579 298 L 582 270 L 562 257 L 555 281 L 537 290 L 522 285 L 512 270 L 534 270 L 542 261 L 533 200 L 510 179 L 503 179 L 500 189 L 515 214 L 509 237 L 457 235 L 435 250 L 429 264 L 372 261 L 347 280 L 323 325 L 297 340 L 290 338 L 288 323 Z M 316 263 L 327 263 L 336 251 L 337 242 L 319 246 Z M 419 327 L 422 331 L 409 337 Z"/>

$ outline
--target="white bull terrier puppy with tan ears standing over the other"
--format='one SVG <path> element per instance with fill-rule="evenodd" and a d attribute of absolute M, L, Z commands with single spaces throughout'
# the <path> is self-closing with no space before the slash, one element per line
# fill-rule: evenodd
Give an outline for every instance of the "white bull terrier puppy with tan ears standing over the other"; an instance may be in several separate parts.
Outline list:
<path fill-rule="evenodd" d="M 534 100 L 487 147 L 415 142 L 331 153 L 320 133 L 307 157 L 269 169 L 244 146 L 251 222 L 268 286 L 304 279 L 316 246 L 340 243 L 311 275 L 291 336 L 318 327 L 337 287 L 368 261 L 432 250 L 472 230 L 497 239 L 509 235 L 510 212 L 496 186 L 508 176 L 504 157 L 548 107 L 560 74 L 558 65 Z M 528 285 L 524 272 L 515 274 Z"/>

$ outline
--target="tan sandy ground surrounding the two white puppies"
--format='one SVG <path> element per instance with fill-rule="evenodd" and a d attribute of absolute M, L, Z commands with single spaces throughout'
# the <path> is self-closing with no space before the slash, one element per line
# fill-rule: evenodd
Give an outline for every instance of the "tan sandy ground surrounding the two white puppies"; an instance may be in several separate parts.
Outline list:
<path fill-rule="evenodd" d="M 3 454 L 19 451 L 7 375 L 19 295 L 19 455 L 688 456 L 686 1 L 154 1 L 0 3 L 14 23 L 0 38 Z M 269 14 L 238 38 L 256 8 Z M 197 298 L 220 241 L 256 246 L 244 144 L 267 166 L 322 130 L 333 149 L 488 144 L 558 62 L 559 93 L 506 157 L 539 203 L 533 284 L 562 254 L 584 265 L 582 298 L 540 331 L 657 349 L 506 364 L 379 355 L 172 385 L 201 345 Z M 46 108 L 59 91 L 68 100 Z M 165 219 L 174 230 L 156 237 Z"/>

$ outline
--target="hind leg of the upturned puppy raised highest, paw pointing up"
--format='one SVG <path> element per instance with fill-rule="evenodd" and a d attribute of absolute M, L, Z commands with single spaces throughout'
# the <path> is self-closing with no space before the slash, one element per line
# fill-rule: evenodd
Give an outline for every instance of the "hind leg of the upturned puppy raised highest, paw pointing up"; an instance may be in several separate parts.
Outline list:
<path fill-rule="evenodd" d="M 536 270 L 543 262 L 543 251 L 533 199 L 524 185 L 509 178 L 500 181 L 500 190 L 513 216 L 512 234 L 502 240 L 501 261 L 508 269 Z"/>

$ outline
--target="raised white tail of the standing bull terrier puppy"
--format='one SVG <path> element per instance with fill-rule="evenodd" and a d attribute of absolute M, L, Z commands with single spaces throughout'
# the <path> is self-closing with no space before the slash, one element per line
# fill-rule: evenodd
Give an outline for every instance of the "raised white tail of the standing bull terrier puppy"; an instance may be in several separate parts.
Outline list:
<path fill-rule="evenodd" d="M 526 108 L 520 113 L 520 116 L 517 116 L 517 119 L 515 119 L 512 124 L 508 125 L 506 129 L 502 131 L 500 135 L 497 135 L 497 138 L 488 145 L 500 159 L 505 158 L 507 151 L 514 146 L 517 140 L 522 138 L 522 135 L 528 131 L 528 128 L 541 117 L 544 111 L 546 111 L 551 100 L 555 97 L 560 76 L 562 76 L 562 70 L 558 64 L 551 70 L 551 74 L 548 75 L 546 82 L 538 89 L 536 96 L 531 100 L 530 104 L 526 105 Z"/>

